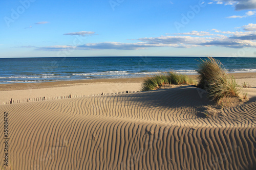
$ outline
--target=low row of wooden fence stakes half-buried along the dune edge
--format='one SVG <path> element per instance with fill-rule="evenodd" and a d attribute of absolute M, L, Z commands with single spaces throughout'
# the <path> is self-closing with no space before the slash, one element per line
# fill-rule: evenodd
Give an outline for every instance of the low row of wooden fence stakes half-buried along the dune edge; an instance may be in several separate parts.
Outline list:
<path fill-rule="evenodd" d="M 48 101 L 48 100 L 56 100 L 56 99 L 69 99 L 69 98 L 81 98 L 81 97 L 89 97 L 89 96 L 97 96 L 97 95 L 110 95 L 110 94 L 126 94 L 126 93 L 136 93 L 141 91 L 121 91 L 115 93 L 100 93 L 100 94 L 90 94 L 90 95 L 64 95 L 64 96 L 55 96 L 55 97 L 38 97 L 38 98 L 30 98 L 30 99 L 11 99 L 7 102 L 2 102 L 0 105 L 6 104 L 15 104 L 15 103 L 26 103 L 26 102 L 37 102 L 37 101 Z"/>

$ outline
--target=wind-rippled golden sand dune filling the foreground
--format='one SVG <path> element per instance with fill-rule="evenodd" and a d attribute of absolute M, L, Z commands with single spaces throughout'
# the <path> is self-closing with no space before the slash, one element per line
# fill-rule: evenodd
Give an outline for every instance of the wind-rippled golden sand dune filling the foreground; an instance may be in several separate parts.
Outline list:
<path fill-rule="evenodd" d="M 0 105 L 0 127 L 7 112 L 12 169 L 255 169 L 256 89 L 247 91 L 249 102 L 211 118 L 192 86 Z"/>

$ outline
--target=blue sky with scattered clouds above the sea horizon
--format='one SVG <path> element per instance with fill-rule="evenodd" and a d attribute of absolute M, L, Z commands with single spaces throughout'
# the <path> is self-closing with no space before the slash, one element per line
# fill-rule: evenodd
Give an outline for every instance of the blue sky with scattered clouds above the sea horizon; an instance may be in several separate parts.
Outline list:
<path fill-rule="evenodd" d="M 256 0 L 1 0 L 0 58 L 256 57 Z"/>

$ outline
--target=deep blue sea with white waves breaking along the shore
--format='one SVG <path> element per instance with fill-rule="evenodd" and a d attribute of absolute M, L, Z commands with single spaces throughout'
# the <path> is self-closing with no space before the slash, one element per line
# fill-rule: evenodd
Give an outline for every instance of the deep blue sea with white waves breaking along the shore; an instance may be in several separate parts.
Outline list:
<path fill-rule="evenodd" d="M 204 57 L 0 58 L 0 83 L 135 78 L 174 69 L 196 75 Z M 256 58 L 218 57 L 228 72 L 256 72 Z"/>

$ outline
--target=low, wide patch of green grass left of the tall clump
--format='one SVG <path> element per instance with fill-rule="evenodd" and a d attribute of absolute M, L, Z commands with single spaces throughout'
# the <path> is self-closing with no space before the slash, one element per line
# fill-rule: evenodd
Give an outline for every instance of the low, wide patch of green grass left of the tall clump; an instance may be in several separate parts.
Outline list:
<path fill-rule="evenodd" d="M 178 74 L 173 70 L 167 74 L 158 74 L 156 76 L 147 77 L 147 79 L 142 84 L 142 91 L 157 90 L 165 84 L 196 85 L 197 82 L 194 79 L 191 79 L 186 75 Z"/>

